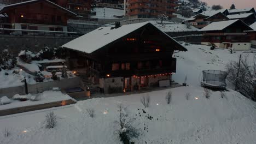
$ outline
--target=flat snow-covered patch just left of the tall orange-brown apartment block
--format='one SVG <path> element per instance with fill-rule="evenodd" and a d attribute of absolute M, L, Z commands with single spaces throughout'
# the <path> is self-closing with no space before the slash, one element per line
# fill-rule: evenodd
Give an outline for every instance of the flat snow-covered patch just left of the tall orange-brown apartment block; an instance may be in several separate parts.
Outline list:
<path fill-rule="evenodd" d="M 96 11 L 96 15 L 91 16 L 96 19 L 119 19 L 116 16 L 124 16 L 124 10 L 112 8 L 94 8 L 91 11 Z"/>

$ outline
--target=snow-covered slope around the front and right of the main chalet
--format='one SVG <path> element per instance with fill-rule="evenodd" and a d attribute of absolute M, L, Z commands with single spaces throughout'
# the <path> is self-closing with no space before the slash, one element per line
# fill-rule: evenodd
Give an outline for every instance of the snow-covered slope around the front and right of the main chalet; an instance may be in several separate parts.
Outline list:
<path fill-rule="evenodd" d="M 225 64 L 237 61 L 241 52 L 211 51 L 201 45 L 186 47 L 188 52 L 174 54 L 177 73 L 173 79 L 182 83 L 187 75 L 188 87 L 92 98 L 74 105 L 3 116 L 0 143 L 121 143 L 116 133 L 119 127 L 114 123 L 118 120 L 119 104 L 127 106 L 125 112 L 136 118 L 133 125 L 141 129 L 142 135 L 135 143 L 256 143 L 256 103 L 231 89 L 224 92 L 223 98 L 217 91 L 206 99 L 200 87 L 201 70 L 224 70 Z M 249 58 L 253 55 L 243 53 Z M 171 104 L 167 105 L 165 97 L 170 91 Z M 185 98 L 187 93 L 189 100 Z M 150 96 L 150 105 L 144 109 L 139 100 L 146 95 Z M 95 117 L 89 117 L 86 109 L 94 109 Z M 50 111 L 57 115 L 57 126 L 45 129 L 44 115 Z M 8 137 L 4 137 L 5 128 L 10 131 Z"/>

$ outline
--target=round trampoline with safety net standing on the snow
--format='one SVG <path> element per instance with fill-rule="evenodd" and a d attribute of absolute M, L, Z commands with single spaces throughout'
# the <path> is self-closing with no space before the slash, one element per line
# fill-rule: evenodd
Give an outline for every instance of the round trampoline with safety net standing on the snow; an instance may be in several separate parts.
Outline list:
<path fill-rule="evenodd" d="M 226 71 L 221 70 L 203 70 L 203 77 L 201 81 L 202 87 L 210 87 L 210 88 L 226 88 L 226 76 L 228 73 Z"/>

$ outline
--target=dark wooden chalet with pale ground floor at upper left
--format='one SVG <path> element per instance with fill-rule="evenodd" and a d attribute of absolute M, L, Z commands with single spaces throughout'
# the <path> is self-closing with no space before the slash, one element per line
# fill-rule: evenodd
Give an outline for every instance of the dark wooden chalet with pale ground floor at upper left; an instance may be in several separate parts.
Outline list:
<path fill-rule="evenodd" d="M 67 31 L 67 20 L 76 14 L 47 0 L 6 5 L 0 14 L 7 17 L 4 28 Z"/>

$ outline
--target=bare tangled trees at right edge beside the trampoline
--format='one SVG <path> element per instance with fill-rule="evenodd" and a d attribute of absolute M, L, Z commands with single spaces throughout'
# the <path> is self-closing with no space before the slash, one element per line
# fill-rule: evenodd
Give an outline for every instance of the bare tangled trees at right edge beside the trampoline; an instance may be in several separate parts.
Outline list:
<path fill-rule="evenodd" d="M 237 87 L 237 91 L 245 95 L 245 97 L 256 101 L 254 95 L 254 80 L 256 79 L 256 61 L 249 64 L 247 57 L 241 58 L 241 62 L 230 62 L 226 65 L 228 71 L 227 80 Z"/>

